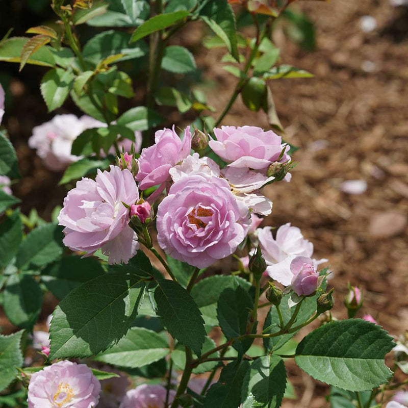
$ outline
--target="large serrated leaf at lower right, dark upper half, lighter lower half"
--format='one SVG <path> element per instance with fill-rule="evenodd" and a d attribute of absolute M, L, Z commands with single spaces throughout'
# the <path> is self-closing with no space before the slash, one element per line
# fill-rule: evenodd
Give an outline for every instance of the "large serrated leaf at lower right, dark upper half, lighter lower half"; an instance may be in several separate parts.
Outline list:
<path fill-rule="evenodd" d="M 387 382 L 384 356 L 395 344 L 380 326 L 361 319 L 327 323 L 297 346 L 296 364 L 313 378 L 349 391 Z"/>

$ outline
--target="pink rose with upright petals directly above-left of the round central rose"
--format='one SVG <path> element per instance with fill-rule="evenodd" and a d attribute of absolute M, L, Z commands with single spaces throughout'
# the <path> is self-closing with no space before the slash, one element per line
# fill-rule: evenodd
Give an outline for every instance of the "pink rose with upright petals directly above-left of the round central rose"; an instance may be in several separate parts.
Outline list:
<path fill-rule="evenodd" d="M 139 172 L 136 180 L 140 190 L 170 181 L 169 170 L 190 155 L 190 126 L 184 131 L 183 141 L 171 129 L 155 134 L 155 144 L 144 148 L 139 158 Z"/>

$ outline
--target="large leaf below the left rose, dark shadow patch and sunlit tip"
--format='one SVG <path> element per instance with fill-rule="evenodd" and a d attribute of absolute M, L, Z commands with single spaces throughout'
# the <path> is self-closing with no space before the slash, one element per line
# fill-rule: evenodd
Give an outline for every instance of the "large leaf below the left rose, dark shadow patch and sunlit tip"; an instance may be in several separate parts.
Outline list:
<path fill-rule="evenodd" d="M 112 347 L 137 316 L 144 288 L 143 278 L 114 272 L 74 289 L 53 313 L 49 358 L 84 358 Z"/>

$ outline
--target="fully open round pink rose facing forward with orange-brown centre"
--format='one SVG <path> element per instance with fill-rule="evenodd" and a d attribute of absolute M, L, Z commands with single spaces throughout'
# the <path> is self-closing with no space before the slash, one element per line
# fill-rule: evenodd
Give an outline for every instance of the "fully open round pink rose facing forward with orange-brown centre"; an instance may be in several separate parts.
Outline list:
<path fill-rule="evenodd" d="M 158 242 L 172 258 L 198 268 L 233 253 L 250 225 L 249 211 L 219 177 L 175 182 L 157 211 Z"/>

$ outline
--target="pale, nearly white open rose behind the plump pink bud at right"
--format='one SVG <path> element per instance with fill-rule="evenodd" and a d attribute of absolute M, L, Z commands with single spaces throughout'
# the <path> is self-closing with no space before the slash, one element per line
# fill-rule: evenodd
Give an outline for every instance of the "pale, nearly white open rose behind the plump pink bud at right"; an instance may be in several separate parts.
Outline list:
<path fill-rule="evenodd" d="M 304 239 L 299 228 L 291 226 L 289 222 L 278 228 L 275 239 L 272 236 L 271 227 L 258 228 L 258 240 L 268 265 L 267 274 L 285 286 L 290 285 L 292 280 L 290 265 L 293 259 L 311 258 L 313 255 L 313 244 Z M 327 260 L 313 259 L 315 268 L 324 262 Z"/>

